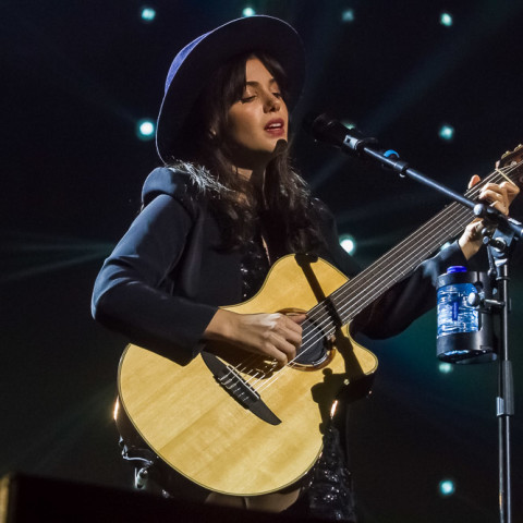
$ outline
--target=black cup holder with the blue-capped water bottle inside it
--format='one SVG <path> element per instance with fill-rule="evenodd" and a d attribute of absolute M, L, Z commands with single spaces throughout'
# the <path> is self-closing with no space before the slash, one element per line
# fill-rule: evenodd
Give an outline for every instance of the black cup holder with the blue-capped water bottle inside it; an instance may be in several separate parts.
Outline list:
<path fill-rule="evenodd" d="M 438 358 L 450 363 L 482 363 L 496 358 L 491 313 L 471 303 L 490 297 L 485 272 L 453 266 L 438 278 Z"/>

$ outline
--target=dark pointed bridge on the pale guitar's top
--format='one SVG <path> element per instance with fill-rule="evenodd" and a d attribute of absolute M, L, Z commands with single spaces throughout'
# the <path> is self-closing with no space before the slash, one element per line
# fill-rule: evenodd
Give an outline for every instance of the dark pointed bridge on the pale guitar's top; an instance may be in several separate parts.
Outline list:
<path fill-rule="evenodd" d="M 230 365 L 226 365 L 214 354 L 203 351 L 202 358 L 215 379 L 244 409 L 270 425 L 279 425 L 281 419 L 264 403 L 262 397 Z"/>

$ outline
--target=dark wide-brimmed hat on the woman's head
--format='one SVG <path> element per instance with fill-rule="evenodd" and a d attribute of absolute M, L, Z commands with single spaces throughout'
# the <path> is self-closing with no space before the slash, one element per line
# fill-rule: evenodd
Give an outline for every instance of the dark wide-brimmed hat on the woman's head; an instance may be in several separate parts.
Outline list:
<path fill-rule="evenodd" d="M 199 36 L 172 61 L 156 129 L 158 155 L 168 162 L 183 156 L 179 133 L 209 75 L 235 54 L 262 50 L 281 64 L 288 76 L 289 109 L 295 105 L 305 76 L 300 35 L 287 22 L 257 15 L 233 20 Z"/>

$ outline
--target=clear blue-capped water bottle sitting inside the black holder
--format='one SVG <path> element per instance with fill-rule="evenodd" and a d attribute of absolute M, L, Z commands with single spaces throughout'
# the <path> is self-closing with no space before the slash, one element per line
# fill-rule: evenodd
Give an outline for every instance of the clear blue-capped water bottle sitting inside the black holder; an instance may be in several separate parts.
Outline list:
<path fill-rule="evenodd" d="M 460 272 L 466 272 L 466 267 L 453 266 L 447 269 L 447 275 Z M 452 279 L 438 289 L 438 338 L 479 330 L 479 311 L 469 304 L 471 294 L 477 294 L 473 283 L 459 283 Z"/>

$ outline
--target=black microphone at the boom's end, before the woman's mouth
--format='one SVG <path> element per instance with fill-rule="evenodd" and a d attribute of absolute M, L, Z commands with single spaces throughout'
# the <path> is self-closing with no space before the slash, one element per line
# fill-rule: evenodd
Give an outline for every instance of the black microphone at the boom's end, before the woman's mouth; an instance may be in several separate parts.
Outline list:
<path fill-rule="evenodd" d="M 356 156 L 361 156 L 361 149 L 370 145 L 377 145 L 376 138 L 362 136 L 356 129 L 349 130 L 338 120 L 321 113 L 309 113 L 303 120 L 303 129 L 318 142 L 332 145 Z"/>

